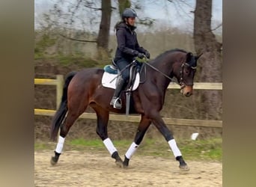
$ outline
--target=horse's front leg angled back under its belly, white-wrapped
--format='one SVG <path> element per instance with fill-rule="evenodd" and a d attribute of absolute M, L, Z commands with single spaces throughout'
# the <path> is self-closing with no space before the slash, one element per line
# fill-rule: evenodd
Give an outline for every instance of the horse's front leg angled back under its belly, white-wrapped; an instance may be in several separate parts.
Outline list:
<path fill-rule="evenodd" d="M 129 159 L 132 158 L 132 155 L 137 150 L 139 144 L 141 144 L 141 141 L 144 137 L 145 132 L 147 132 L 148 127 L 150 126 L 151 120 L 145 117 L 144 115 L 141 115 L 141 121 L 138 125 L 138 129 L 134 138 L 134 141 L 130 145 L 129 149 L 127 150 L 127 153 L 124 155 L 124 168 L 127 168 L 129 165 Z"/>

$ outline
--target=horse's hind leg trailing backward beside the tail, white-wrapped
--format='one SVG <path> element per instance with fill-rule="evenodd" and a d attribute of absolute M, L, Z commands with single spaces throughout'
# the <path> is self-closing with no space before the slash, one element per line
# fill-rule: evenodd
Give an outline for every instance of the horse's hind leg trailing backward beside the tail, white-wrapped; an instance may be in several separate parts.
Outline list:
<path fill-rule="evenodd" d="M 70 112 L 67 111 L 67 117 L 64 120 L 64 123 L 61 125 L 60 136 L 58 137 L 58 144 L 55 149 L 55 156 L 52 156 L 51 164 L 55 165 L 58 162 L 59 156 L 61 155 L 62 149 L 64 147 L 64 141 L 67 133 L 70 130 L 70 127 L 73 126 L 73 123 L 79 117 L 82 112 Z"/>

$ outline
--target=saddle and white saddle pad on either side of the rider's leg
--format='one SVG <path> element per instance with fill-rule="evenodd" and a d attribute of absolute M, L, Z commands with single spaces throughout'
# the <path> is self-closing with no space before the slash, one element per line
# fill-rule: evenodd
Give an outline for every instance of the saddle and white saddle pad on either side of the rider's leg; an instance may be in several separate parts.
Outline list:
<path fill-rule="evenodd" d="M 142 65 L 143 66 L 143 65 Z M 129 65 L 129 80 L 127 82 L 127 86 L 126 88 L 124 88 L 124 92 L 126 93 L 126 114 L 129 114 L 129 105 L 130 105 L 130 96 L 131 96 L 131 92 L 135 91 L 135 89 L 138 88 L 139 85 L 139 81 L 140 81 L 140 73 L 141 70 L 143 69 L 141 66 L 138 65 L 138 63 L 135 61 L 132 64 Z M 108 88 L 114 88 L 116 86 L 114 86 L 113 84 L 110 85 L 109 83 L 114 82 L 114 80 L 107 80 L 107 77 L 114 77 L 115 79 L 115 85 L 118 83 L 118 79 L 120 79 L 121 76 L 120 75 L 120 70 L 118 70 L 118 67 L 115 63 L 114 60 L 112 60 L 112 64 L 110 65 L 106 65 L 104 67 L 104 71 L 105 73 L 103 74 L 103 79 L 102 79 L 102 84 L 104 87 L 108 87 Z M 109 75 L 108 75 L 109 74 Z"/>

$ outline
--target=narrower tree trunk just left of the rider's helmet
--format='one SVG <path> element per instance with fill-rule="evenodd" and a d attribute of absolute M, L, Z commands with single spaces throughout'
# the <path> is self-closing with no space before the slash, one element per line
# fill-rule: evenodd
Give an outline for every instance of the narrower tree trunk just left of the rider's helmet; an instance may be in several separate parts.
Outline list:
<path fill-rule="evenodd" d="M 112 13 L 111 0 L 101 1 L 102 16 L 97 38 L 98 58 L 109 58 L 109 28 Z"/>

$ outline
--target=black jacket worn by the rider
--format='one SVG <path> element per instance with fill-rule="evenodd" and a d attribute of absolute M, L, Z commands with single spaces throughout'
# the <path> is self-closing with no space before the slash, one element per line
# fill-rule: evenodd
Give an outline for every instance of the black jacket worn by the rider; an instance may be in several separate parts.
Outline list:
<path fill-rule="evenodd" d="M 118 61 L 120 58 L 132 61 L 132 58 L 136 57 L 138 52 L 145 53 L 147 51 L 138 45 L 137 34 L 134 31 L 135 27 L 121 22 L 116 26 L 116 30 L 118 47 L 115 52 L 115 61 Z"/>

